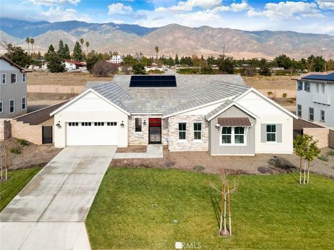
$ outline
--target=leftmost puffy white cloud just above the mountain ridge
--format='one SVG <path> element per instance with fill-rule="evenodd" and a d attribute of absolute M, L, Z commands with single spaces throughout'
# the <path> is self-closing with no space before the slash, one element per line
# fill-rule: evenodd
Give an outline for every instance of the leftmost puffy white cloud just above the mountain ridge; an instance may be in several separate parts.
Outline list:
<path fill-rule="evenodd" d="M 86 14 L 79 14 L 77 10 L 73 8 L 67 8 L 63 10 L 60 7 L 50 7 L 47 11 L 42 11 L 38 13 L 38 16 L 33 17 L 34 19 L 47 20 L 49 22 L 62 22 L 77 20 L 83 22 L 90 22 L 91 19 Z"/>

